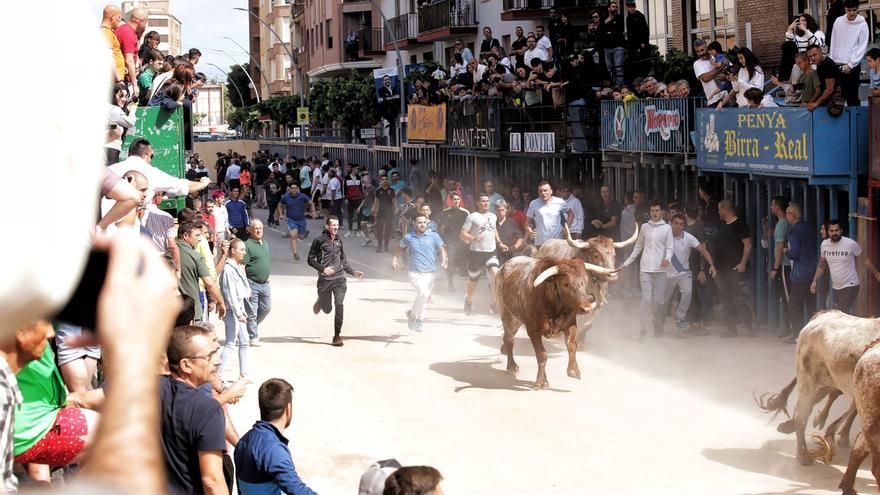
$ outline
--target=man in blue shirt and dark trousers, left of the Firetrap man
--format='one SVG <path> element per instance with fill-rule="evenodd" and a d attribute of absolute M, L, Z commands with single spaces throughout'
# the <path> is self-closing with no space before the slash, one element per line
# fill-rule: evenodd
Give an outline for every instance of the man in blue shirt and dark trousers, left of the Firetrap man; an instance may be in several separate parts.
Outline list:
<path fill-rule="evenodd" d="M 816 229 L 804 222 L 799 203 L 791 203 L 785 209 L 785 219 L 791 225 L 785 254 L 791 260 L 791 287 L 788 290 L 788 322 L 792 329 L 789 344 L 797 343 L 798 334 L 804 326 L 804 308 L 807 314 L 816 312 L 816 298 L 810 293 L 810 283 L 819 263 Z"/>

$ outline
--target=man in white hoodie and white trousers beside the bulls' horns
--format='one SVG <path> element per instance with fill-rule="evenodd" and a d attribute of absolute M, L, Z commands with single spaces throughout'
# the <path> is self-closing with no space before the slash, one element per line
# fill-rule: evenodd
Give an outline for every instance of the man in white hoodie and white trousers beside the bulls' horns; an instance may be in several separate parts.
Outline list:
<path fill-rule="evenodd" d="M 648 328 L 653 324 L 654 336 L 663 335 L 663 309 L 666 295 L 666 267 L 672 259 L 672 229 L 663 221 L 663 208 L 658 201 L 651 203 L 651 219 L 642 224 L 639 238 L 632 254 L 623 262 L 631 265 L 639 255 L 642 256 L 639 270 L 639 283 L 642 286 L 641 331 L 639 342 L 648 336 Z"/>

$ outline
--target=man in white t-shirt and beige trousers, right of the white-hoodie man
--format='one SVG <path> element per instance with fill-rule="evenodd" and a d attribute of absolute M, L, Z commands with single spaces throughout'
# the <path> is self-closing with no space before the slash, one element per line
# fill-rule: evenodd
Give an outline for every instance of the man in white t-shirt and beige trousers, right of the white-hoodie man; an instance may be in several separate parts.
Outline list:
<path fill-rule="evenodd" d="M 675 290 L 681 294 L 681 300 L 678 303 L 678 310 L 675 312 L 675 335 L 684 337 L 685 331 L 688 329 L 687 312 L 691 306 L 691 295 L 693 294 L 693 274 L 690 269 L 691 249 L 696 249 L 703 258 L 709 262 L 709 275 L 715 276 L 715 263 L 712 262 L 712 255 L 706 250 L 706 246 L 700 244 L 696 237 L 684 231 L 687 225 L 683 215 L 675 215 L 672 217 L 672 259 L 666 266 L 666 303 L 664 308 L 672 302 L 672 296 Z M 699 282 L 706 283 L 706 274 L 700 272 Z M 666 313 L 664 312 L 664 318 Z"/>

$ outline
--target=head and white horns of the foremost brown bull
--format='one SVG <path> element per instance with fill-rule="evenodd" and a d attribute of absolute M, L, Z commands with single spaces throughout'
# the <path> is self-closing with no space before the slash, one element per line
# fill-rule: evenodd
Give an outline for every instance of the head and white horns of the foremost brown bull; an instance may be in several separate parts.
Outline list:
<path fill-rule="evenodd" d="M 578 259 L 558 260 L 535 277 L 532 285 L 538 287 L 545 282 L 553 283 L 563 305 L 576 308 L 578 314 L 592 314 L 603 302 L 598 279 L 607 279 L 618 270 Z M 553 280 L 548 282 L 551 278 Z"/>

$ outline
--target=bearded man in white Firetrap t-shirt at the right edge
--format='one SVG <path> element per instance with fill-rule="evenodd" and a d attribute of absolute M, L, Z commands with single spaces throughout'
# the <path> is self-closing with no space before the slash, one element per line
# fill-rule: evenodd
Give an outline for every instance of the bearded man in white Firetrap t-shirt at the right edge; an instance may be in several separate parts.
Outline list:
<path fill-rule="evenodd" d="M 831 220 L 828 222 L 828 239 L 822 241 L 820 252 L 819 266 L 816 267 L 810 292 L 816 293 L 816 283 L 827 269 L 831 273 L 834 308 L 852 314 L 853 304 L 859 295 L 859 273 L 856 271 L 856 261 L 862 254 L 862 247 L 856 241 L 843 236 L 843 228 L 839 221 Z M 871 263 L 871 259 L 867 256 L 864 259 L 865 266 L 880 282 L 880 273 Z"/>

